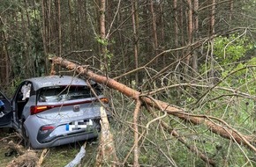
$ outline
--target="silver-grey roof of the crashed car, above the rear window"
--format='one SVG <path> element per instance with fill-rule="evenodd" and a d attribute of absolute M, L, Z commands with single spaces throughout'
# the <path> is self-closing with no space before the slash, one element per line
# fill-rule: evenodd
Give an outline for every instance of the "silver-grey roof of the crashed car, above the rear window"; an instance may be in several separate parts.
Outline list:
<path fill-rule="evenodd" d="M 76 76 L 40 76 L 26 79 L 25 82 L 31 82 L 34 86 L 34 91 L 43 87 L 58 86 L 58 85 L 87 85 L 87 82 Z M 90 81 L 90 84 L 95 84 Z"/>

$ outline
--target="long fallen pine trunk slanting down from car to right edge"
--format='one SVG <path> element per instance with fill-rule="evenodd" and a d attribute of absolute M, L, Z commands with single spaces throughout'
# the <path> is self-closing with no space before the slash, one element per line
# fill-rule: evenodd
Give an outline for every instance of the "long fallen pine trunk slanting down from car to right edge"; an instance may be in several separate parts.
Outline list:
<path fill-rule="evenodd" d="M 157 109 L 163 109 L 164 112 L 169 113 L 173 116 L 177 116 L 181 120 L 191 122 L 193 124 L 199 125 L 204 124 L 209 130 L 215 134 L 219 134 L 224 138 L 233 140 L 234 142 L 244 144 L 248 148 L 256 152 L 256 148 L 252 144 L 256 144 L 256 139 L 253 136 L 248 136 L 237 132 L 237 130 L 230 127 L 226 122 L 221 119 L 207 116 L 207 115 L 196 115 L 192 113 L 187 113 L 184 109 L 178 108 L 174 105 L 169 105 L 168 103 L 156 100 L 154 98 L 148 97 L 147 95 L 141 94 L 139 91 L 135 91 L 132 88 L 118 83 L 116 80 L 109 78 L 108 76 L 100 76 L 95 74 L 93 71 L 88 69 L 88 66 L 79 66 L 74 62 L 64 60 L 62 57 L 52 57 L 50 60 L 56 64 L 64 67 L 66 69 L 76 70 L 79 74 L 86 76 L 88 79 L 92 79 L 97 83 L 105 84 L 109 88 L 117 90 L 127 97 L 133 98 L 135 100 L 141 100 L 143 103 L 153 106 Z M 156 105 L 157 103 L 158 105 Z M 161 106 L 161 108 L 159 108 Z M 215 123 L 217 121 L 218 123 Z"/>

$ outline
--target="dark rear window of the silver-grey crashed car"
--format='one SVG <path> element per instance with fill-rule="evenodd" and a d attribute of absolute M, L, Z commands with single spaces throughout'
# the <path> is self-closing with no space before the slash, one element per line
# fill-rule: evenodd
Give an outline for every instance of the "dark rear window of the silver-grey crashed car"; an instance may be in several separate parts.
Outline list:
<path fill-rule="evenodd" d="M 96 88 L 96 87 L 95 87 Z M 97 95 L 101 94 L 100 89 L 95 89 Z M 39 90 L 39 102 L 59 102 L 66 100 L 93 98 L 94 93 L 87 86 L 51 86 Z"/>

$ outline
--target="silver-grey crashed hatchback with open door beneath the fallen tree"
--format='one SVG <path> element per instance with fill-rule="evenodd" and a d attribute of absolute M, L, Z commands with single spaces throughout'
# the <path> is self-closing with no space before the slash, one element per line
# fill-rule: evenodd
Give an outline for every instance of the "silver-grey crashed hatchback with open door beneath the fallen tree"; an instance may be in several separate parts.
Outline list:
<path fill-rule="evenodd" d="M 108 105 L 100 84 L 74 76 L 26 79 L 11 100 L 3 93 L 0 100 L 0 127 L 13 127 L 34 149 L 96 138 L 102 103 Z"/>

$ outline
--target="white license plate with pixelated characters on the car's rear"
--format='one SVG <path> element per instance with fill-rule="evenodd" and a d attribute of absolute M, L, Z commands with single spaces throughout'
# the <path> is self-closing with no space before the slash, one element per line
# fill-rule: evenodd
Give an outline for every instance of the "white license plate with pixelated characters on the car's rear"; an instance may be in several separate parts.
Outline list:
<path fill-rule="evenodd" d="M 66 124 L 66 131 L 74 131 L 74 130 L 86 130 L 87 127 L 93 126 L 92 120 L 74 120 L 69 124 Z"/>

